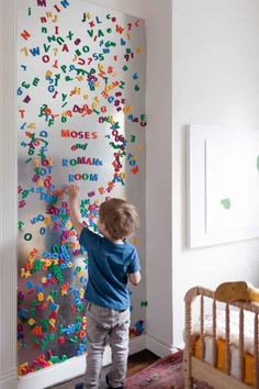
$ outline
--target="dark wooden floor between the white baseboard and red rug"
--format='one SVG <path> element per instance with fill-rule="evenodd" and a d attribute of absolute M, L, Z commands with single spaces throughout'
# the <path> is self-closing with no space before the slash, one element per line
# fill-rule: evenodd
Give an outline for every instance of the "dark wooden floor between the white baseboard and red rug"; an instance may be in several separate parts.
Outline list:
<path fill-rule="evenodd" d="M 144 349 L 140 353 L 131 355 L 128 357 L 128 363 L 127 363 L 127 377 L 134 376 L 135 374 L 142 371 L 143 369 L 145 369 L 146 367 L 151 365 L 157 359 L 159 359 L 159 357 L 147 349 Z M 105 381 L 105 375 L 109 371 L 109 368 L 110 367 L 106 366 L 106 367 L 103 367 L 103 369 L 102 369 L 102 379 L 101 379 L 102 385 L 101 385 L 100 389 L 106 388 L 106 386 L 104 385 L 104 381 Z M 83 376 L 77 377 L 70 381 L 63 382 L 60 385 L 52 387 L 52 389 L 74 389 L 75 385 L 77 382 L 81 382 L 81 381 L 83 381 Z"/>

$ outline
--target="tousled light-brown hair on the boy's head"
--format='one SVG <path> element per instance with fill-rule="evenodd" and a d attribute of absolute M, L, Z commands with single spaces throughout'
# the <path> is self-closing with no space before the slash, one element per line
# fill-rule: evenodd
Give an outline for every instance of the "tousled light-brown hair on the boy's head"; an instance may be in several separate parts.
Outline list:
<path fill-rule="evenodd" d="M 99 218 L 114 240 L 122 240 L 139 227 L 140 219 L 134 205 L 112 198 L 100 205 Z"/>

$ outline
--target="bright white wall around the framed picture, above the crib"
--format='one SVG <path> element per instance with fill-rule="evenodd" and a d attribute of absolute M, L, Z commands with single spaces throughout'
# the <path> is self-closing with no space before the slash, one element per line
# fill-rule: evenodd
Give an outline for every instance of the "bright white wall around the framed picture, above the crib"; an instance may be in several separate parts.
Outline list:
<path fill-rule="evenodd" d="M 196 285 L 259 285 L 259 240 L 185 248 L 188 123 L 259 129 L 259 2 L 173 0 L 172 269 L 173 343 L 182 343 L 183 297 Z"/>

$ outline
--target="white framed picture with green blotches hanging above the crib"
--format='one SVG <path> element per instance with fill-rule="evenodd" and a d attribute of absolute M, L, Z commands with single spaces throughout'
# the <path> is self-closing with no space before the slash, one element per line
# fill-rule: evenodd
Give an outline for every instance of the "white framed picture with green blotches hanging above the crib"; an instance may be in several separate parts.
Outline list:
<path fill-rule="evenodd" d="M 259 237 L 259 130 L 187 127 L 187 244 Z"/>

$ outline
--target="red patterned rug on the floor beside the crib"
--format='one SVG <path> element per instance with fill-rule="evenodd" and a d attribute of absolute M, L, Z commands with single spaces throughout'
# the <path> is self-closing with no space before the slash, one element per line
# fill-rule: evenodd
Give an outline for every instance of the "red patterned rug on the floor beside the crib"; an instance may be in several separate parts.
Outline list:
<path fill-rule="evenodd" d="M 182 351 L 160 358 L 140 373 L 130 377 L 125 389 L 184 389 Z M 203 382 L 195 381 L 193 389 L 213 389 Z"/>

